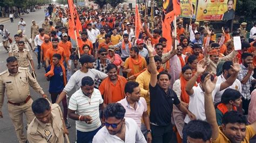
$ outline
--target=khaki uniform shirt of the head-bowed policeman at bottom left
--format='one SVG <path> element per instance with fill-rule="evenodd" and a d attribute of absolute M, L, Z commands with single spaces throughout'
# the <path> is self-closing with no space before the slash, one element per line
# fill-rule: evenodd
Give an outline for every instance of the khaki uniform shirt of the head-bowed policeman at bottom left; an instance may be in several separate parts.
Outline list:
<path fill-rule="evenodd" d="M 64 126 L 62 111 L 58 104 L 51 104 L 52 123 L 42 123 L 36 117 L 31 121 L 27 131 L 28 141 L 38 142 L 64 142 Z"/>

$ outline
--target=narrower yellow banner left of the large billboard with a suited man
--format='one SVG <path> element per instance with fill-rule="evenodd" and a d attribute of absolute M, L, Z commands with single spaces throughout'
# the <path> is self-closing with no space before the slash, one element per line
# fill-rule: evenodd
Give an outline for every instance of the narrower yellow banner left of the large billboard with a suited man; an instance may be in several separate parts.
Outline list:
<path fill-rule="evenodd" d="M 192 5 L 190 5 L 190 1 Z M 191 11 L 192 6 L 192 11 Z M 180 10 L 181 15 L 180 17 L 186 17 L 186 18 L 193 18 L 196 19 L 196 13 L 197 13 L 197 0 L 180 0 Z M 193 12 L 193 16 L 191 14 Z"/>

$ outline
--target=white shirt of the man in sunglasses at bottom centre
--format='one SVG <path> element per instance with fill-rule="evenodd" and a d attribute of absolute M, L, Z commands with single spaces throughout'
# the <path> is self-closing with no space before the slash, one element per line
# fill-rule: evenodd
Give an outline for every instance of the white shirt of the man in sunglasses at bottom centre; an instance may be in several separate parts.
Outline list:
<path fill-rule="evenodd" d="M 146 139 L 140 131 L 140 128 L 136 125 L 136 122 L 131 118 L 125 118 L 125 141 L 117 137 L 117 135 L 111 135 L 109 131 L 107 131 L 106 126 L 100 128 L 100 130 L 96 133 L 93 137 L 93 143 L 99 142 L 139 142 L 139 143 L 146 143 Z"/>

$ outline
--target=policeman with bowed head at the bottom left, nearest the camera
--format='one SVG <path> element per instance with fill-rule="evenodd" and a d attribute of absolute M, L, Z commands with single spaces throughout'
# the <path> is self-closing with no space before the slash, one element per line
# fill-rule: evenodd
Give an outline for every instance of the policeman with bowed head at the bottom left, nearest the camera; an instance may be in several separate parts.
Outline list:
<path fill-rule="evenodd" d="M 64 142 L 63 134 L 69 132 L 58 104 L 50 105 L 45 98 L 38 98 L 32 103 L 32 111 L 36 117 L 28 127 L 29 142 Z"/>

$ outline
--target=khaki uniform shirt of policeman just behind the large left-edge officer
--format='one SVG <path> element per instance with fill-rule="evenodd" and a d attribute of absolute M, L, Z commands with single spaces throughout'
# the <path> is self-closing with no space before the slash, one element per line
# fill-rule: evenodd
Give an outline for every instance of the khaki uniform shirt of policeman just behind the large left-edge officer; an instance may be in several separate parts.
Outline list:
<path fill-rule="evenodd" d="M 19 67 L 27 68 L 29 70 L 29 62 L 30 60 L 33 60 L 33 58 L 28 50 L 23 49 L 23 51 L 20 52 L 19 49 L 15 49 L 15 51 L 11 53 L 11 56 L 17 58 Z"/>

